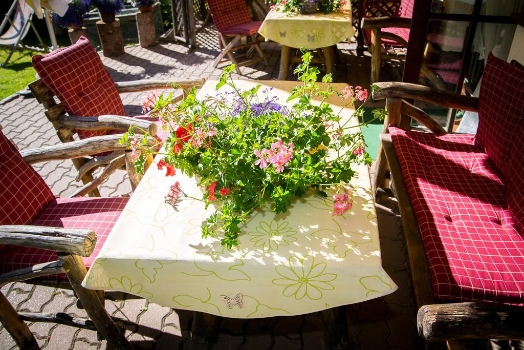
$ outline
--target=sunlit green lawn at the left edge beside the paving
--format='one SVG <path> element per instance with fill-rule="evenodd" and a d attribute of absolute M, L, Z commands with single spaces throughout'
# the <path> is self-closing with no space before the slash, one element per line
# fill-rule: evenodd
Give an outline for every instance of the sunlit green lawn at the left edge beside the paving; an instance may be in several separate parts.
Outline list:
<path fill-rule="evenodd" d="M 0 48 L 0 62 L 4 63 L 9 49 Z M 7 67 L 0 68 L 0 100 L 25 89 L 28 83 L 35 80 L 35 69 L 31 65 L 30 51 L 15 50 L 7 63 Z"/>

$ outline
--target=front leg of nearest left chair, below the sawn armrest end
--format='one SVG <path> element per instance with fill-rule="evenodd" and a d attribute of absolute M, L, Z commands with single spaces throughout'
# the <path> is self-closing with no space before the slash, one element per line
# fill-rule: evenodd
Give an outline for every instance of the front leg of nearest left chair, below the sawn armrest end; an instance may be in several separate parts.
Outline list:
<path fill-rule="evenodd" d="M 124 333 L 118 328 L 111 316 L 107 313 L 96 291 L 82 287 L 82 281 L 87 269 L 79 256 L 58 253 L 62 266 L 67 271 L 69 282 L 77 293 L 85 312 L 93 321 L 97 330 L 104 336 L 108 343 L 116 349 L 133 349 Z"/>

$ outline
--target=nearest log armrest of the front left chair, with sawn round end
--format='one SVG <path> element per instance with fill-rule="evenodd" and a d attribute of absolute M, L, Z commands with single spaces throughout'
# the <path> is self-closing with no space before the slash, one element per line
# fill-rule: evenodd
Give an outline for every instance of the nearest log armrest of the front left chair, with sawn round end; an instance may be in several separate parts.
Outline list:
<path fill-rule="evenodd" d="M 42 248 L 89 257 L 95 249 L 96 235 L 92 230 L 2 225 L 0 226 L 0 244 Z"/>

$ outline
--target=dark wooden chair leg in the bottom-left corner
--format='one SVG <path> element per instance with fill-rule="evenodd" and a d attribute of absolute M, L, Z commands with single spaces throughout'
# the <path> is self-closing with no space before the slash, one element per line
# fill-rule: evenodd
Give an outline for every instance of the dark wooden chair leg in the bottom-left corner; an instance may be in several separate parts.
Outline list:
<path fill-rule="evenodd" d="M 39 349 L 35 336 L 27 327 L 27 324 L 20 319 L 20 315 L 16 312 L 13 305 L 4 294 L 0 293 L 0 323 L 4 326 L 7 333 L 9 333 L 16 345 L 20 349 Z"/>

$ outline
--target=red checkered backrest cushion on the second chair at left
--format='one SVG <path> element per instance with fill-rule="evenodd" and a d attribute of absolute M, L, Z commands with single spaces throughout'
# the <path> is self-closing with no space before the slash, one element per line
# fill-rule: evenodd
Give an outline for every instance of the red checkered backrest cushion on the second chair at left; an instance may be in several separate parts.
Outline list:
<path fill-rule="evenodd" d="M 113 79 L 85 37 L 80 37 L 76 44 L 54 50 L 50 54 L 33 56 L 32 64 L 69 114 L 125 115 L 124 105 Z M 82 139 L 106 133 L 78 131 Z"/>

